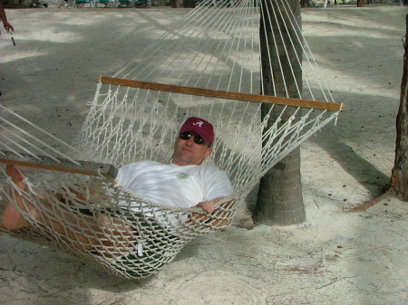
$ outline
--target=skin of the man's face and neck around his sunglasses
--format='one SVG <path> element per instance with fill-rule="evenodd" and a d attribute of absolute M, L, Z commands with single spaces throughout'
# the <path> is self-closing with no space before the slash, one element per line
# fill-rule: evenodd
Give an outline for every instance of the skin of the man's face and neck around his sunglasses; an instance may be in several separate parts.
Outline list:
<path fill-rule="evenodd" d="M 200 165 L 201 162 L 209 157 L 211 148 L 208 143 L 197 144 L 194 137 L 197 135 L 193 131 L 188 131 L 189 139 L 177 138 L 174 144 L 174 155 L 172 162 L 178 166 Z"/>

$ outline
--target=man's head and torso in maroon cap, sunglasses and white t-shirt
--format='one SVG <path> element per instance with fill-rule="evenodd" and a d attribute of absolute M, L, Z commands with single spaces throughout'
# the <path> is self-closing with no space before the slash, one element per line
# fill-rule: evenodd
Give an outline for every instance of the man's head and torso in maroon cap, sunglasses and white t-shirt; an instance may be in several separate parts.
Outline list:
<path fill-rule="evenodd" d="M 217 167 L 200 166 L 211 153 L 214 129 L 191 117 L 180 128 L 170 164 L 141 161 L 121 167 L 116 179 L 125 188 L 163 205 L 197 205 L 211 213 L 214 204 L 232 193 L 228 176 Z"/>

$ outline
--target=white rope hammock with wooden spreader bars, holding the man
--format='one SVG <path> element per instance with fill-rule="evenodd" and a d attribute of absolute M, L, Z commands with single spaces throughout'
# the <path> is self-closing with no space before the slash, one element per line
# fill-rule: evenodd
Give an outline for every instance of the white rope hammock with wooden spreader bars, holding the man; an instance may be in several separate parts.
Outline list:
<path fill-rule="evenodd" d="M 0 204 L 11 202 L 31 224 L 1 232 L 135 279 L 159 272 L 200 234 L 228 226 L 260 177 L 341 110 L 287 1 L 270 1 L 267 15 L 261 14 L 265 3 L 252 0 L 209 0 L 191 10 L 135 61 L 99 79 L 73 145 L 0 106 L 0 161 L 24 166 L 26 185 L 15 186 L 2 167 Z M 269 71 L 283 80 L 282 97 L 262 94 L 261 20 L 275 26 L 267 45 L 286 42 L 277 58 L 296 50 L 302 67 L 302 80 L 291 84 L 296 69 L 290 64 Z M 289 30 L 296 40 L 287 38 Z M 294 88 L 299 99 L 290 98 Z M 261 116 L 263 104 L 269 112 Z M 273 111 L 278 115 L 271 121 Z M 190 116 L 213 123 L 216 142 L 205 162 L 226 171 L 234 187 L 212 214 L 160 205 L 116 184 L 123 165 L 169 163 L 180 125 Z"/>

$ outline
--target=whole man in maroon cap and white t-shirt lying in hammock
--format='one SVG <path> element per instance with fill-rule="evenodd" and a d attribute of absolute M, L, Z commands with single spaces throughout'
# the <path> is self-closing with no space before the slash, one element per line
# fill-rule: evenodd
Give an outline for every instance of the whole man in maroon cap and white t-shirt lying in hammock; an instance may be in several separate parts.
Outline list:
<path fill-rule="evenodd" d="M 160 164 L 153 161 L 132 163 L 120 168 L 116 180 L 134 194 L 153 202 L 180 207 L 198 206 L 205 212 L 211 213 L 214 211 L 215 204 L 225 196 L 230 195 L 233 190 L 224 171 L 217 167 L 201 165 L 204 159 L 209 157 L 213 142 L 214 129 L 212 125 L 205 119 L 189 118 L 180 128 L 170 164 Z M 18 167 L 7 165 L 6 175 L 10 176 L 15 185 L 22 190 L 27 188 L 24 184 L 24 174 Z M 41 211 L 36 211 L 33 205 L 24 201 L 24 197 L 17 191 L 11 190 L 11 193 L 11 197 L 15 198 L 16 204 L 24 212 L 52 227 L 59 234 L 67 236 L 70 243 L 76 248 L 89 250 L 92 246 L 88 247 L 84 244 L 100 243 L 98 234 L 101 236 L 106 234 L 106 228 L 122 232 L 130 231 L 120 220 L 106 215 L 102 216 L 102 219 L 95 219 L 94 223 L 88 218 L 86 226 L 84 226 L 88 229 L 82 228 L 81 234 L 77 231 L 67 232 L 67 226 L 58 223 L 55 219 L 64 219 L 73 225 L 77 223 L 78 219 L 73 218 L 67 212 L 64 213 L 63 210 L 55 210 L 54 219 L 45 219 L 41 215 Z M 80 194 L 74 195 L 81 196 Z M 59 199 L 64 201 L 64 198 Z M 84 199 L 82 198 L 82 200 Z M 31 225 L 15 209 L 14 205 L 8 203 L 5 206 L 0 227 L 16 231 Z M 94 237 L 91 238 L 92 234 Z"/>

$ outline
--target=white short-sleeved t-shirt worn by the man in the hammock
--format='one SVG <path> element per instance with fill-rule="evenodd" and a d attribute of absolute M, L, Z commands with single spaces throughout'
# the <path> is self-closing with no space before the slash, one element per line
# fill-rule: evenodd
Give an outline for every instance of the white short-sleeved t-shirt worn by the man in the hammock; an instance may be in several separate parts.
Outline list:
<path fill-rule="evenodd" d="M 226 173 L 207 165 L 180 167 L 141 161 L 121 167 L 116 180 L 143 198 L 178 207 L 191 207 L 233 191 Z"/>

